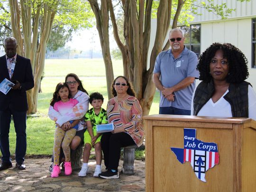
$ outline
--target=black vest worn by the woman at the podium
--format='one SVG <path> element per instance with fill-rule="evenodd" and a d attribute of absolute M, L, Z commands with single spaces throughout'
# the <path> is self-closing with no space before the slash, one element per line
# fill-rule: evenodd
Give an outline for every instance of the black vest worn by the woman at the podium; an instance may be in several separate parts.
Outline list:
<path fill-rule="evenodd" d="M 233 117 L 248 117 L 248 85 L 250 83 L 230 83 L 229 92 L 223 97 L 231 106 Z M 214 93 L 214 84 L 201 82 L 196 88 L 193 105 L 193 114 L 197 115 L 204 104 L 210 100 Z"/>

